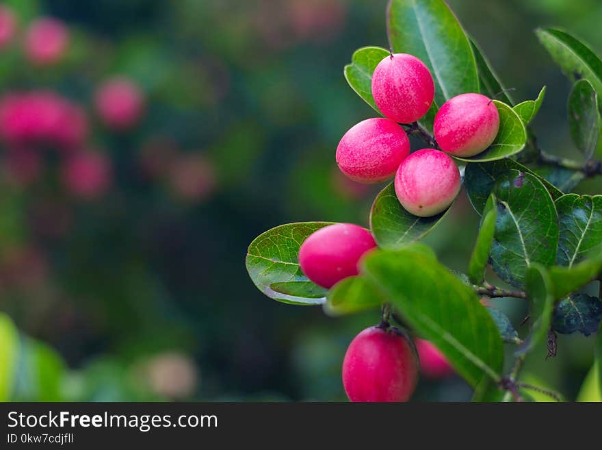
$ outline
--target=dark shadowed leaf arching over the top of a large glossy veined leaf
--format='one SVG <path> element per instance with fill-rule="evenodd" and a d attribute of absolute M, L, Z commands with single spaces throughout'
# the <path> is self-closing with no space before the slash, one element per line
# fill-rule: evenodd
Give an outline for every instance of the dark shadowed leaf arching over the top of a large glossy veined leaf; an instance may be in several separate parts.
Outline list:
<path fill-rule="evenodd" d="M 495 186 L 495 180 L 510 173 L 510 171 L 520 171 L 538 177 L 553 199 L 558 199 L 563 195 L 562 191 L 540 177 L 540 175 L 514 160 L 468 164 L 466 171 L 464 171 L 464 184 L 469 200 L 478 214 L 481 214 L 483 208 L 485 208 L 485 203 Z"/>

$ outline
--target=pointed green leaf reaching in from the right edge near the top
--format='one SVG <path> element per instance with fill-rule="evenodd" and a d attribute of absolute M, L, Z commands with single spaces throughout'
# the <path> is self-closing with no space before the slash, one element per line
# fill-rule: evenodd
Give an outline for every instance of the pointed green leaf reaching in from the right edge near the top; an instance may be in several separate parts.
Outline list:
<path fill-rule="evenodd" d="M 583 42 L 555 28 L 535 30 L 542 45 L 572 82 L 584 78 L 602 95 L 602 60 Z"/>

